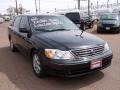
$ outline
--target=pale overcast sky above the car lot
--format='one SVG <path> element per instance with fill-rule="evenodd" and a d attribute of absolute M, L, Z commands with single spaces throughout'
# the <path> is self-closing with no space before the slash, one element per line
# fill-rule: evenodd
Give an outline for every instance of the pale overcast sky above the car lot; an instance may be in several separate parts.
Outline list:
<path fill-rule="evenodd" d="M 22 6 L 27 9 L 35 12 L 34 2 L 35 0 L 18 0 L 18 5 L 22 4 Z M 37 0 L 38 2 L 39 0 Z M 51 11 L 54 8 L 57 9 L 67 9 L 77 7 L 77 0 L 40 0 L 41 1 L 41 11 Z M 98 0 L 99 4 L 106 3 L 107 0 Z M 110 3 L 116 2 L 117 0 L 109 0 Z M 97 3 L 97 0 L 91 0 L 93 5 Z M 0 0 L 0 13 L 5 13 L 6 9 L 9 6 L 15 7 L 15 0 Z M 81 2 L 81 6 L 87 6 L 86 1 Z"/>

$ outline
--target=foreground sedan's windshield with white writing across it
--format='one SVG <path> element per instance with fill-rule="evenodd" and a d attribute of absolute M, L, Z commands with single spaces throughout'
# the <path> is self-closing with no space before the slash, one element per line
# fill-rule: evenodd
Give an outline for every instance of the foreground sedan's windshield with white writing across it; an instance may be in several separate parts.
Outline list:
<path fill-rule="evenodd" d="M 36 31 L 79 30 L 65 16 L 31 16 L 29 21 Z"/>

